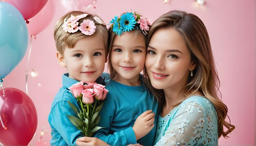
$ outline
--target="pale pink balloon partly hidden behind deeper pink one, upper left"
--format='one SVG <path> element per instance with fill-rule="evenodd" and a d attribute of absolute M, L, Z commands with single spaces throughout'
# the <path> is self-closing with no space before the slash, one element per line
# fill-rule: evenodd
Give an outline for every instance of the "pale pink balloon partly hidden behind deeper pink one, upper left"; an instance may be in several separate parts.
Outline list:
<path fill-rule="evenodd" d="M 33 18 L 29 19 L 27 29 L 31 35 L 37 35 L 52 22 L 55 13 L 54 0 L 48 0 L 45 7 Z"/>

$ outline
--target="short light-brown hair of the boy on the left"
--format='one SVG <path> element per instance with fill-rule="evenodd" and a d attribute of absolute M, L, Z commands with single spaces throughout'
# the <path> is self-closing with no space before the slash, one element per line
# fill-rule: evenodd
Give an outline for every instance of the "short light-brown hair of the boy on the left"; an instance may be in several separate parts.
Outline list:
<path fill-rule="evenodd" d="M 77 15 L 82 15 L 84 13 L 85 12 L 83 11 L 70 11 L 65 15 L 63 15 L 55 24 L 54 40 L 55 40 L 57 51 L 59 51 L 61 55 L 63 55 L 65 47 L 74 48 L 78 40 L 90 37 L 90 35 L 85 35 L 80 30 L 76 31 L 75 33 L 65 32 L 62 27 L 64 24 L 64 20 L 68 20 L 71 17 L 71 15 L 77 16 Z M 99 17 L 98 15 L 88 13 L 88 15 L 82 19 L 89 19 L 95 23 L 96 22 L 94 20 L 95 16 Z M 95 23 L 95 26 L 96 26 L 96 31 L 94 32 L 93 35 L 99 35 L 99 37 L 102 37 L 104 46 L 106 49 L 106 57 L 107 57 L 108 56 L 108 29 L 104 24 Z"/>

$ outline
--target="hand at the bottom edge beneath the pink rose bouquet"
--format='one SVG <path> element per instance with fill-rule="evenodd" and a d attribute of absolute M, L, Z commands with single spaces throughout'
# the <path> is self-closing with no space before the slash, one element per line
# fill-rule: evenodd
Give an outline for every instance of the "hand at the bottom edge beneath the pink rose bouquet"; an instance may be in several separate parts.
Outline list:
<path fill-rule="evenodd" d="M 78 146 L 109 146 L 106 142 L 96 137 L 80 137 L 76 139 Z"/>

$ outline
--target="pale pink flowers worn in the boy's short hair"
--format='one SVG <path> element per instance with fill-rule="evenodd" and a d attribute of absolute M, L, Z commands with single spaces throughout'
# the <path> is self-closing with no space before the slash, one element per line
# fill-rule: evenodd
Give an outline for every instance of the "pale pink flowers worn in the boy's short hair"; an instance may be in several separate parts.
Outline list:
<path fill-rule="evenodd" d="M 85 18 L 87 15 L 87 13 L 77 16 L 71 15 L 68 20 L 64 20 L 64 24 L 62 25 L 63 30 L 69 33 L 75 33 L 80 30 L 85 35 L 92 35 L 96 31 L 95 23 L 89 19 L 84 19 L 81 22 L 81 19 Z M 106 25 L 99 17 L 95 16 L 94 20 L 96 21 L 96 24 Z"/>

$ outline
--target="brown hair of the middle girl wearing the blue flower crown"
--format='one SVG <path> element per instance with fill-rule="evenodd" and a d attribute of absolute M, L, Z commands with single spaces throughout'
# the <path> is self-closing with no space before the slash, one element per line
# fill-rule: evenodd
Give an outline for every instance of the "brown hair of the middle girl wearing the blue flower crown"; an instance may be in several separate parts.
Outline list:
<path fill-rule="evenodd" d="M 125 13 L 122 13 L 121 15 L 123 15 Z M 138 14 L 138 13 L 137 13 Z M 120 16 L 121 16 L 120 15 Z M 139 16 L 142 17 L 142 15 L 139 14 Z M 144 16 L 143 16 L 144 17 Z M 148 27 L 150 28 L 150 25 L 148 25 Z M 110 78 L 113 79 L 116 75 L 117 75 L 117 71 L 115 71 L 115 69 L 113 68 L 112 64 L 111 64 L 111 49 L 112 49 L 112 45 L 115 39 L 115 36 L 117 35 L 115 32 L 113 32 L 113 29 L 110 27 L 108 29 L 108 46 L 109 46 L 109 50 L 108 50 L 108 70 L 110 72 Z M 123 32 L 125 33 L 125 32 Z M 145 44 L 146 44 L 146 35 L 144 35 L 144 33 L 141 31 L 141 29 L 137 26 L 135 26 L 135 29 L 132 30 L 132 35 L 134 36 L 134 38 L 137 38 L 137 36 L 139 34 L 142 34 L 145 38 Z"/>

